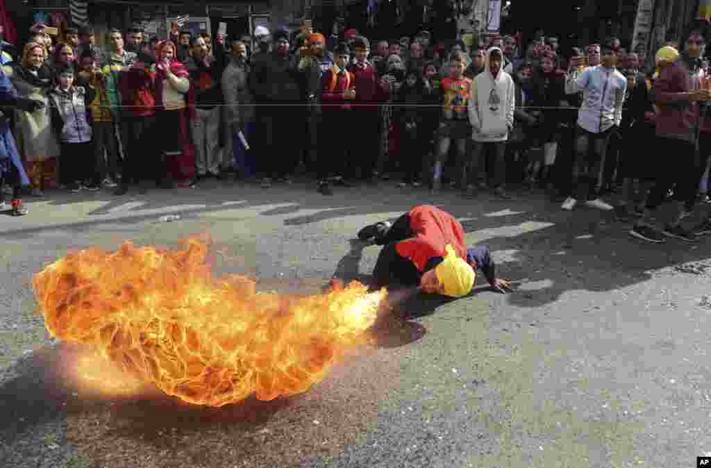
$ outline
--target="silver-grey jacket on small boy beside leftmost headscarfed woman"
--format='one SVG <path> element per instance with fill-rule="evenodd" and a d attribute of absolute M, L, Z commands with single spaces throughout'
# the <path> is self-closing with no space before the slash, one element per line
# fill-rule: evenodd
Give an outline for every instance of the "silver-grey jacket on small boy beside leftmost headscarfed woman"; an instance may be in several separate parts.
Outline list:
<path fill-rule="evenodd" d="M 86 143 L 91 141 L 89 104 L 94 100 L 91 88 L 73 86 L 69 90 L 55 87 L 50 90 L 52 127 L 63 143 Z"/>

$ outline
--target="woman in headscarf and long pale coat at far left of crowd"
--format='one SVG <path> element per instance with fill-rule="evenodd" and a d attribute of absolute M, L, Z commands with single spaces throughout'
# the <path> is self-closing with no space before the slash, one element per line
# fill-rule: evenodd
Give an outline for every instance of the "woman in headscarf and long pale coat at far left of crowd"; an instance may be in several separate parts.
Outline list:
<path fill-rule="evenodd" d="M 43 196 L 45 179 L 51 176 L 51 159 L 59 156 L 59 143 L 52 131 L 48 92 L 53 85 L 53 72 L 45 62 L 46 49 L 43 44 L 30 42 L 25 45 L 22 60 L 13 66 L 4 66 L 3 71 L 21 97 L 40 101 L 44 107 L 16 113 L 18 149 L 26 164 L 31 168 L 33 196 Z"/>

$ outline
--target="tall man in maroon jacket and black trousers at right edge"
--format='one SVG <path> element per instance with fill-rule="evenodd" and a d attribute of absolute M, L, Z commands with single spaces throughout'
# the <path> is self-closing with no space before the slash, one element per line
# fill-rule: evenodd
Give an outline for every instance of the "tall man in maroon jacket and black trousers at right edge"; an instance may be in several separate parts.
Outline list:
<path fill-rule="evenodd" d="M 673 160 L 650 159 L 656 164 L 656 184 L 649 192 L 642 218 L 629 232 L 636 238 L 655 243 L 663 240 L 653 228 L 651 218 L 674 185 L 673 216 L 661 229 L 661 235 L 693 242 L 695 234 L 709 232 L 711 223 L 708 220 L 693 230 L 681 225 L 681 220 L 693 211 L 711 151 L 711 133 L 704 131 L 702 122 L 707 115 L 707 102 L 711 99 L 711 91 L 705 86 L 707 76 L 701 68 L 707 40 L 707 24 L 702 21 L 693 23 L 684 33 L 683 52 L 678 60 L 665 66 L 654 80 L 653 100 L 658 107 L 655 149 L 657 154 L 670 155 Z"/>

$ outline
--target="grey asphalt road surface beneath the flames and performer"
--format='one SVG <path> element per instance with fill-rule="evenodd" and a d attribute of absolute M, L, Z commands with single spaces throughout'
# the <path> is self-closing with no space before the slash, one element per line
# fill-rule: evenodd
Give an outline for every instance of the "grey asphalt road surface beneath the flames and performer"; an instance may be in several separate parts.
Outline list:
<path fill-rule="evenodd" d="M 230 183 L 232 184 L 232 183 Z M 52 193 L 0 216 L 1 467 L 692 467 L 711 452 L 711 243 L 648 245 L 541 194 L 470 201 L 383 184 Z M 486 243 L 508 295 L 415 297 L 311 391 L 220 409 L 77 388 L 31 277 L 73 248 L 213 238 L 215 274 L 317 292 L 372 269 L 358 228 L 417 203 Z M 161 223 L 166 213 L 181 220 Z"/>

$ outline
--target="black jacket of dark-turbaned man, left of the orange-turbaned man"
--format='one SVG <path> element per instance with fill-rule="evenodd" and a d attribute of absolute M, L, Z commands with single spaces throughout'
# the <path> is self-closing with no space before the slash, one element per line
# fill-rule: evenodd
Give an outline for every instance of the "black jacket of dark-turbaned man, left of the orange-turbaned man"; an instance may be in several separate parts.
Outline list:
<path fill-rule="evenodd" d="M 250 87 L 257 102 L 294 103 L 301 100 L 297 58 L 274 52 L 252 64 Z"/>

